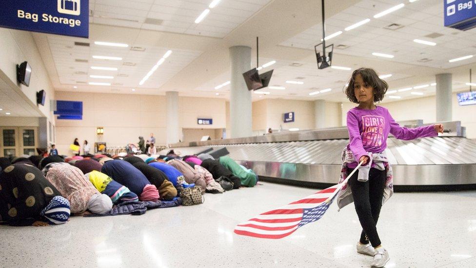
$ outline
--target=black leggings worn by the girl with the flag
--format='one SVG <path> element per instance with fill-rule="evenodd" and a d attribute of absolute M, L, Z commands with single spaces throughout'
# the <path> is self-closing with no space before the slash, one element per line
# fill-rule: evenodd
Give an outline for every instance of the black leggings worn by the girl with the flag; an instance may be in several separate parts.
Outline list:
<path fill-rule="evenodd" d="M 352 170 L 354 169 L 349 168 L 348 172 Z M 373 247 L 381 244 L 377 233 L 377 221 L 382 207 L 386 175 L 385 170 L 371 168 L 367 182 L 357 181 L 358 171 L 349 179 L 358 220 L 363 229 L 360 234 L 360 243 L 367 244 L 370 241 Z"/>

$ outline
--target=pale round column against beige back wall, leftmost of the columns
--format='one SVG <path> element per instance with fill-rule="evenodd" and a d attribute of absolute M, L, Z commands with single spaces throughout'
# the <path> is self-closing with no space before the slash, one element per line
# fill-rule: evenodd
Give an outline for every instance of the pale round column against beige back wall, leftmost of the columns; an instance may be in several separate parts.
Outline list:
<path fill-rule="evenodd" d="M 179 126 L 179 92 L 167 91 L 165 92 L 165 98 L 167 101 L 167 144 L 175 144 L 180 139 L 180 126 Z"/>

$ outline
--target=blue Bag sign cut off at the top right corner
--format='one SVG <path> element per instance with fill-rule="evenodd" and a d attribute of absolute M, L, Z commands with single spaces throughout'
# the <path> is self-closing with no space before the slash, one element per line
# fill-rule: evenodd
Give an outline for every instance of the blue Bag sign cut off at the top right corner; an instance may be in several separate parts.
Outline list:
<path fill-rule="evenodd" d="M 458 30 L 476 27 L 476 0 L 443 0 L 445 26 Z"/>

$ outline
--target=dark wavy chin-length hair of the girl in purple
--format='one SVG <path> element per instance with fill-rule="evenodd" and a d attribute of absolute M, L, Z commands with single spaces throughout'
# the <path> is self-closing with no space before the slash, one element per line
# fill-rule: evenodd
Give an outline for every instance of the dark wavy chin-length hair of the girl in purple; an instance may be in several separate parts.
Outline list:
<path fill-rule="evenodd" d="M 349 81 L 349 85 L 345 87 L 345 95 L 353 103 L 358 103 L 357 97 L 354 94 L 354 84 L 356 82 L 357 75 L 362 77 L 364 83 L 374 88 L 374 102 L 380 102 L 383 100 L 385 93 L 387 93 L 387 82 L 378 78 L 377 72 L 371 68 L 358 68 L 352 73 L 352 77 Z"/>

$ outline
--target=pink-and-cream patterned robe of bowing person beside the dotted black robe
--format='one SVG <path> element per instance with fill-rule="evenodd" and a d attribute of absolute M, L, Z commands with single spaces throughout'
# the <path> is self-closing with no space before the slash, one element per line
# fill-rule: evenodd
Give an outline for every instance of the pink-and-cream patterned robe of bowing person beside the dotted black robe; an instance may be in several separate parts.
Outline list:
<path fill-rule="evenodd" d="M 99 191 L 76 166 L 53 164 L 46 174 L 46 179 L 59 190 L 63 197 L 68 199 L 72 213 L 86 211 L 90 205 L 89 200 L 99 194 Z"/>

